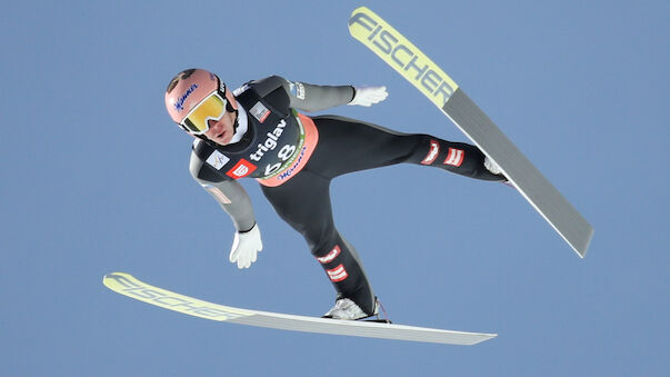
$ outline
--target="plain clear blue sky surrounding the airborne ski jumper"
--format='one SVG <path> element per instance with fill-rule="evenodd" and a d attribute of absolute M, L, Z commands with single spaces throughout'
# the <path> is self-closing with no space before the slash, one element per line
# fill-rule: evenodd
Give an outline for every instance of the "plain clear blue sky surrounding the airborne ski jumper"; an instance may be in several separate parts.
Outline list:
<path fill-rule="evenodd" d="M 473 347 L 218 324 L 101 284 L 127 271 L 224 305 L 321 315 L 333 290 L 258 185 L 264 250 L 188 172 L 163 103 L 190 67 L 386 85 L 330 111 L 466 137 L 353 40 L 368 6 L 428 53 L 593 225 L 586 259 L 513 190 L 396 166 L 333 181 L 336 222 L 396 323 Z M 0 375 L 660 376 L 670 367 L 667 1 L 91 2 L 3 6 Z M 343 151 L 346 152 L 346 151 Z"/>

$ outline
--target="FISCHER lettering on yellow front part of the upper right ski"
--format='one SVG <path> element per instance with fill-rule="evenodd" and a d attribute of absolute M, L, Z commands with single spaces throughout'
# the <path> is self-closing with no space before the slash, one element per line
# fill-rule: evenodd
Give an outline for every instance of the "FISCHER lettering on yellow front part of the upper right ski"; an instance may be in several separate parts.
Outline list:
<path fill-rule="evenodd" d="M 368 37 L 366 43 L 370 43 L 374 48 L 374 51 L 380 54 L 384 60 L 390 57 L 390 61 L 396 68 L 409 80 L 416 81 L 424 90 L 427 90 L 434 100 L 444 105 L 449 97 L 453 95 L 457 87 L 453 87 L 449 81 L 449 77 L 442 77 L 439 71 L 440 68 L 437 66 L 431 67 L 430 61 L 426 58 L 421 51 L 407 42 L 406 39 L 394 30 L 387 30 L 390 27 L 384 28 L 381 22 L 378 22 L 364 12 L 358 12 L 349 19 L 349 27 L 353 24 L 360 24 L 363 29 L 368 30 Z M 416 75 L 412 75 L 414 73 Z"/>

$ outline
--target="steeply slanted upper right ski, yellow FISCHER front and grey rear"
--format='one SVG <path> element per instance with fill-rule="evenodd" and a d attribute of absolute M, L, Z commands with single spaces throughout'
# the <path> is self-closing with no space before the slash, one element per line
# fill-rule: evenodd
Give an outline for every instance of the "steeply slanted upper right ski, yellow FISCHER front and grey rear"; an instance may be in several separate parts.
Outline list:
<path fill-rule="evenodd" d="M 444 112 L 578 256 L 586 256 L 593 228 L 438 65 L 366 7 L 351 13 L 349 32 Z"/>

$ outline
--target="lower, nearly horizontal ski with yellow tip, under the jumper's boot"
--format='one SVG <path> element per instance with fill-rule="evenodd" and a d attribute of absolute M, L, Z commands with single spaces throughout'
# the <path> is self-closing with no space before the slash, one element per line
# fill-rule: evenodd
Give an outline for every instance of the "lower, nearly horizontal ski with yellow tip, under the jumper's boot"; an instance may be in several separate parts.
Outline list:
<path fill-rule="evenodd" d="M 193 317 L 239 325 L 461 346 L 474 345 L 497 336 L 496 334 L 451 331 L 377 321 L 339 320 L 234 308 L 150 286 L 124 272 L 108 274 L 102 282 L 109 289 L 136 300 Z"/>

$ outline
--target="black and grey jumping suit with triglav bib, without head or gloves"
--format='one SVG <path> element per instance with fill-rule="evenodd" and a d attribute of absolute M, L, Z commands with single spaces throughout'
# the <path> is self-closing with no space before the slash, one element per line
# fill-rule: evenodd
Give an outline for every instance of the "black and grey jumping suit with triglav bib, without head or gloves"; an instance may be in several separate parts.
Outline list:
<path fill-rule="evenodd" d="M 504 177 L 489 172 L 484 155 L 468 143 L 399 133 L 338 116 L 309 118 L 296 110 L 346 105 L 353 95 L 350 86 L 314 86 L 278 76 L 251 81 L 234 91 L 238 141 L 220 146 L 196 140 L 190 170 L 241 232 L 251 229 L 256 219 L 237 179 L 257 178 L 277 214 L 304 237 L 338 298 L 349 298 L 372 314 L 376 299 L 361 258 L 333 222 L 330 181 L 343 173 L 401 162 L 483 180 Z"/>

